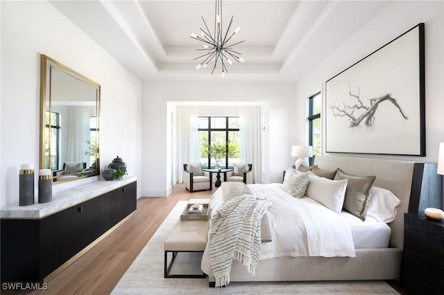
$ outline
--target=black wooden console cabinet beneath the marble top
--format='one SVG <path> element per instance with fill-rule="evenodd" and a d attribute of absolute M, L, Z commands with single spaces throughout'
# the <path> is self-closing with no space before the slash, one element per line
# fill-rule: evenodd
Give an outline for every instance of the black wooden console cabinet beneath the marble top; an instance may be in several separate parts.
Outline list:
<path fill-rule="evenodd" d="M 41 219 L 2 219 L 1 281 L 43 282 L 136 210 L 133 182 Z"/>

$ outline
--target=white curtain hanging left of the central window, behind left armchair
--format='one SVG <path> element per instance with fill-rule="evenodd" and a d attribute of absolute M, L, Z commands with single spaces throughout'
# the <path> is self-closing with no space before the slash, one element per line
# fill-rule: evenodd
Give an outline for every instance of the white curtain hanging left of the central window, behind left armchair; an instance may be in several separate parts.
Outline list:
<path fill-rule="evenodd" d="M 183 164 L 200 162 L 198 106 L 176 106 L 176 178 L 183 182 Z"/>

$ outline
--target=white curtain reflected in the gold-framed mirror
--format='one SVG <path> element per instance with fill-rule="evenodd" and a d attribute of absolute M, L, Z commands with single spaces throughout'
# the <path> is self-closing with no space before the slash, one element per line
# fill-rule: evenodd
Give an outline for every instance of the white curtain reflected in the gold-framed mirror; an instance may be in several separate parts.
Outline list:
<path fill-rule="evenodd" d="M 87 141 L 89 141 L 89 107 L 70 106 L 68 109 L 67 126 L 65 129 L 69 141 L 66 147 L 66 162 L 87 162 Z"/>

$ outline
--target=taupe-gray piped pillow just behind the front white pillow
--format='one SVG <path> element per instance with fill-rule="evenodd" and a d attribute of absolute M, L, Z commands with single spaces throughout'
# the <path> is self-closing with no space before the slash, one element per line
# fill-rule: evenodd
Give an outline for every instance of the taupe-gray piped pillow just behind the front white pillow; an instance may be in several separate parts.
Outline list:
<path fill-rule="evenodd" d="M 334 180 L 348 179 L 343 209 L 361 220 L 366 220 L 368 202 L 376 176 L 359 177 L 348 175 L 338 168 Z"/>

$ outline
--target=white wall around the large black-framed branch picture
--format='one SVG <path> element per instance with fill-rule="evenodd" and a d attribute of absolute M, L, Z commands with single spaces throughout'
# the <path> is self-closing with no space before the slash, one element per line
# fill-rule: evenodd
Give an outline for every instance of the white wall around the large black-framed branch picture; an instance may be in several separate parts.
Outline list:
<path fill-rule="evenodd" d="M 392 1 L 355 35 L 341 44 L 297 83 L 296 129 L 305 130 L 305 102 L 323 89 L 325 81 L 366 57 L 420 22 L 425 23 L 426 157 L 381 156 L 407 161 L 438 161 L 438 143 L 444 141 L 444 7 L 443 1 Z M 346 21 L 346 20 L 344 20 Z M 325 96 L 323 95 L 325 102 Z M 324 103 L 325 108 L 325 103 Z M 325 111 L 325 109 L 324 109 Z M 325 130 L 325 126 L 323 126 Z M 325 133 L 323 133 L 325 134 Z M 303 136 L 307 136 L 303 134 Z M 323 138 L 324 139 L 324 138 Z M 325 151 L 325 145 L 323 146 Z M 356 155 L 359 157 L 359 155 Z"/>

